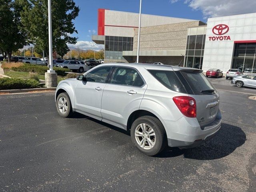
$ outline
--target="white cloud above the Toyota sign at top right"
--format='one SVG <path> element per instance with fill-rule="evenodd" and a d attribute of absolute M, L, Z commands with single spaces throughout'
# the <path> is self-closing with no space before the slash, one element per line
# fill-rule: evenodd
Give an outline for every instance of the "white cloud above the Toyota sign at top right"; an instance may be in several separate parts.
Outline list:
<path fill-rule="evenodd" d="M 178 0 L 170 0 L 175 3 Z M 193 10 L 201 10 L 204 18 L 254 13 L 255 0 L 183 0 Z"/>

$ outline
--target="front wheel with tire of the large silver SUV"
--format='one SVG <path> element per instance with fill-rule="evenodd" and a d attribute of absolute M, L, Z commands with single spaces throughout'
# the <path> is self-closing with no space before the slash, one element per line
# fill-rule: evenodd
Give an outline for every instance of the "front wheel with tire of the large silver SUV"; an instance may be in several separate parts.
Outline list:
<path fill-rule="evenodd" d="M 70 117 L 73 114 L 70 98 L 66 92 L 58 95 L 56 100 L 58 114 L 62 117 Z"/>

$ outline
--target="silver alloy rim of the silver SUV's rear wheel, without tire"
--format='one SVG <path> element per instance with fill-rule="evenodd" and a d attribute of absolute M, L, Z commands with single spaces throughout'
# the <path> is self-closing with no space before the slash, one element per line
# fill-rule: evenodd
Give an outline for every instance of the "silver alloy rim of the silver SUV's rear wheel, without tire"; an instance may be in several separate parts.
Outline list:
<path fill-rule="evenodd" d="M 156 144 L 156 134 L 151 126 L 146 123 L 139 124 L 135 128 L 135 139 L 143 149 L 152 149 Z"/>

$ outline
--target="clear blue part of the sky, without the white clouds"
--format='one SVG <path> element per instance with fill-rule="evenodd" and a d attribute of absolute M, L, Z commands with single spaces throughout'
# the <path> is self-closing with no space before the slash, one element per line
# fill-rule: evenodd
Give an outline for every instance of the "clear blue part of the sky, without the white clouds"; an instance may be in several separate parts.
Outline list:
<path fill-rule="evenodd" d="M 80 7 L 79 16 L 74 21 L 78 30 L 78 40 L 91 40 L 93 30 L 97 33 L 98 8 L 107 8 L 125 12 L 139 12 L 139 0 L 74 0 Z M 181 11 L 182 10 L 182 11 Z M 204 20 L 200 10 L 192 10 L 188 4 L 169 0 L 142 0 L 142 13 Z M 90 30 L 90 32 L 89 32 Z M 76 36 L 76 34 L 75 34 Z"/>

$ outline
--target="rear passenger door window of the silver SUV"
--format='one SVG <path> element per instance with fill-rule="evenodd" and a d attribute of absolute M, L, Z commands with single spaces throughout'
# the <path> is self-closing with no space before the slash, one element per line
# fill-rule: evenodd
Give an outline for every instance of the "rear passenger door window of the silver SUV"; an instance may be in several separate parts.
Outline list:
<path fill-rule="evenodd" d="M 117 67 L 110 83 L 134 87 L 141 87 L 144 84 L 140 74 L 135 69 L 126 67 Z"/>

